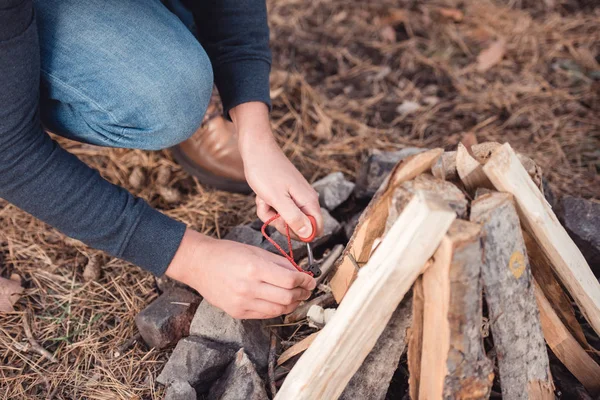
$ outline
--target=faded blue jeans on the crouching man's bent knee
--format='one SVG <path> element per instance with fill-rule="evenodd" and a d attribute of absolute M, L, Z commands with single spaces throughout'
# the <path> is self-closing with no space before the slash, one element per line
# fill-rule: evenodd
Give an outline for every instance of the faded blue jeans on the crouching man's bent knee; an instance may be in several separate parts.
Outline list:
<path fill-rule="evenodd" d="M 200 43 L 159 0 L 34 0 L 46 128 L 158 150 L 189 138 L 210 101 Z"/>

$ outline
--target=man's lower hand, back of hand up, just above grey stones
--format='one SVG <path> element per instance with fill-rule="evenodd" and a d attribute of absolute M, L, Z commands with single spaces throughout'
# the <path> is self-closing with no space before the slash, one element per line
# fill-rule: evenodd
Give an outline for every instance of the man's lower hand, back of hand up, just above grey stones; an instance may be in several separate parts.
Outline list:
<path fill-rule="evenodd" d="M 237 319 L 273 318 L 310 297 L 315 280 L 266 250 L 186 230 L 166 275 Z"/>

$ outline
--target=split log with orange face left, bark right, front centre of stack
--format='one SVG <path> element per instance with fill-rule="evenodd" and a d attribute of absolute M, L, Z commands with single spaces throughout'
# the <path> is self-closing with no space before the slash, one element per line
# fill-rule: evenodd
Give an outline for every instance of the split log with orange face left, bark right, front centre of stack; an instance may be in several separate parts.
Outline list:
<path fill-rule="evenodd" d="M 481 335 L 480 231 L 477 224 L 454 221 L 423 274 L 420 399 L 490 396 L 494 373 Z"/>

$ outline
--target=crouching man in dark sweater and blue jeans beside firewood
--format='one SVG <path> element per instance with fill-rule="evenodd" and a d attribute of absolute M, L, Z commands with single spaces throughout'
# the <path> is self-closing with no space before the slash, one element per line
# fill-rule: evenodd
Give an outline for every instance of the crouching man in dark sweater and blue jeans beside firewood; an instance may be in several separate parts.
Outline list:
<path fill-rule="evenodd" d="M 236 318 L 270 318 L 315 281 L 283 258 L 186 228 L 45 133 L 175 154 L 204 181 L 256 192 L 299 237 L 315 191 L 269 126 L 264 0 L 194 0 L 197 38 L 159 0 L 0 0 L 0 197 L 88 245 L 187 283 Z M 237 140 L 199 130 L 214 82 Z M 236 167 L 237 166 L 237 167 Z M 243 171 L 242 171 L 243 168 Z M 244 179 L 245 178 L 245 179 Z"/>

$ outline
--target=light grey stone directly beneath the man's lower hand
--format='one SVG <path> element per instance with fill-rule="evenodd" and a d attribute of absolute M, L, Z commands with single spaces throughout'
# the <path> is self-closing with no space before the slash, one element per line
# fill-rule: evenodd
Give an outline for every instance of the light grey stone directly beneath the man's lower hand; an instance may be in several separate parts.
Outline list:
<path fill-rule="evenodd" d="M 190 335 L 214 340 L 235 350 L 243 347 L 261 372 L 267 368 L 269 331 L 261 320 L 235 319 L 205 300 L 196 310 Z"/>

